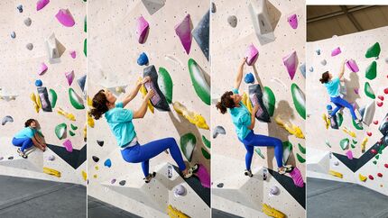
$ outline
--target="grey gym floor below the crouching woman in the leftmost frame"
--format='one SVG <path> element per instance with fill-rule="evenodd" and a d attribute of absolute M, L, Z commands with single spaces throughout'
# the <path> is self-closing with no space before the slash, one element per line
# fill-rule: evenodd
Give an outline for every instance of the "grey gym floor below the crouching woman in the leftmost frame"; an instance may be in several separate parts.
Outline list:
<path fill-rule="evenodd" d="M 86 196 L 81 185 L 0 176 L 0 217 L 85 218 Z"/>

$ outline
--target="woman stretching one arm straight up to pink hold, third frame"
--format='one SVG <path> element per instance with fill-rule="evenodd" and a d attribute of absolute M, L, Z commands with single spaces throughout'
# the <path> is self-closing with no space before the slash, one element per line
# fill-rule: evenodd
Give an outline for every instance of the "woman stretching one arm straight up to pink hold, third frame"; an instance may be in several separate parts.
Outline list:
<path fill-rule="evenodd" d="M 238 140 L 245 145 L 245 176 L 253 177 L 251 171 L 252 158 L 254 156 L 254 146 L 273 146 L 275 150 L 275 159 L 278 165 L 278 172 L 285 174 L 291 172 L 291 165 L 283 166 L 282 156 L 283 147 L 282 141 L 273 137 L 254 134 L 254 123 L 256 112 L 259 110 L 259 104 L 254 106 L 252 114 L 241 102 L 242 96 L 238 94 L 238 88 L 240 87 L 241 80 L 243 79 L 243 69 L 245 65 L 245 59 L 243 59 L 235 79 L 235 86 L 232 91 L 226 91 L 221 96 L 221 101 L 217 103 L 216 107 L 221 114 L 226 114 L 226 111 L 232 117 L 232 122 L 235 124 Z"/>

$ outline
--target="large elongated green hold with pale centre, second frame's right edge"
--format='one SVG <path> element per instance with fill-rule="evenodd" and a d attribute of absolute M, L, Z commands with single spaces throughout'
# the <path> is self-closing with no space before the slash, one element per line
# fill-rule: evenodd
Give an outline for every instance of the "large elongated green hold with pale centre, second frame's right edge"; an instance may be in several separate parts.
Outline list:
<path fill-rule="evenodd" d="M 210 86 L 205 79 L 204 72 L 194 59 L 189 59 L 189 73 L 194 90 L 205 104 L 210 105 Z"/>

